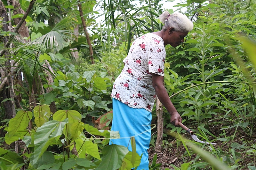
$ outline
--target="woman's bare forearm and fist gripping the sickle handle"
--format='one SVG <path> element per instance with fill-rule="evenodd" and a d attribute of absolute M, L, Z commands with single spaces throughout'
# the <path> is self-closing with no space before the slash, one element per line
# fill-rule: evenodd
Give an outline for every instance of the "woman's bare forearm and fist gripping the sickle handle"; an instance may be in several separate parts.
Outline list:
<path fill-rule="evenodd" d="M 173 106 L 172 101 L 170 100 L 169 95 L 164 88 L 164 76 L 159 76 L 154 73 L 151 74 L 153 87 L 155 88 L 158 99 L 169 112 L 171 116 L 171 123 L 178 127 L 179 122 L 181 122 L 182 119 L 180 117 L 180 114 L 177 112 L 176 108 Z"/>

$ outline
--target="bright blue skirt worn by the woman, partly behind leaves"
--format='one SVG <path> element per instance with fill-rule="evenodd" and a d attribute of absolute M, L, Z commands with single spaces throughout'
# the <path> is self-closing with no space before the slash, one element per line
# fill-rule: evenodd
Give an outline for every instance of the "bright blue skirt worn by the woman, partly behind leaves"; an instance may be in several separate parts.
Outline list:
<path fill-rule="evenodd" d="M 151 138 L 151 112 L 144 108 L 132 108 L 113 98 L 113 121 L 111 131 L 119 131 L 124 139 L 111 139 L 109 144 L 128 147 L 132 151 L 130 137 L 135 136 L 136 151 L 142 155 L 137 170 L 148 170 L 148 148 Z M 144 132 L 144 133 L 143 133 Z M 140 134 L 141 133 L 141 134 Z"/>

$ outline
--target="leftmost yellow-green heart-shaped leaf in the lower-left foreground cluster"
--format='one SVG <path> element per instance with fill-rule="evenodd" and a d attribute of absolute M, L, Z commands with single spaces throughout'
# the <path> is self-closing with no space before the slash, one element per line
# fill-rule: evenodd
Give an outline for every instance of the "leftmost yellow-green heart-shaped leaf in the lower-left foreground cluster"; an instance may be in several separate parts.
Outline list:
<path fill-rule="evenodd" d="M 32 119 L 32 112 L 20 110 L 9 122 L 8 134 L 11 138 L 16 132 L 28 127 L 28 122 Z"/>

